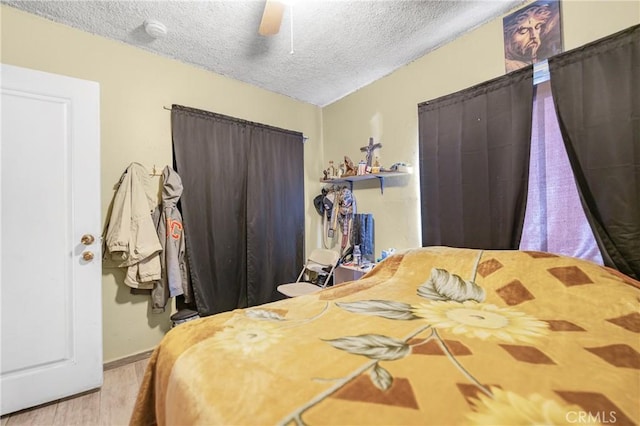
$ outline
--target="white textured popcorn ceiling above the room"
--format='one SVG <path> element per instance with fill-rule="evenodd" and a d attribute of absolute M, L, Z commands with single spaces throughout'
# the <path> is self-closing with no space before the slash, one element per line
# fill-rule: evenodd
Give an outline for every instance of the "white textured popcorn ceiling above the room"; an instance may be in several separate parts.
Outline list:
<path fill-rule="evenodd" d="M 292 98 L 325 106 L 526 0 L 297 0 L 258 34 L 264 1 L 2 3 Z M 144 21 L 167 35 L 154 39 Z"/>

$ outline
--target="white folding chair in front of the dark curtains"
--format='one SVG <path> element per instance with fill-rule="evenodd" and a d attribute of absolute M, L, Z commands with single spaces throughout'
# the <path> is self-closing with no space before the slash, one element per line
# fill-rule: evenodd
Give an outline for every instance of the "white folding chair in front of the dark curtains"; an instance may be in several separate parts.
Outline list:
<path fill-rule="evenodd" d="M 340 254 L 333 250 L 315 249 L 307 258 L 294 283 L 280 284 L 278 291 L 288 297 L 315 293 L 325 288 L 333 277 Z M 315 277 L 315 283 L 311 282 Z"/>

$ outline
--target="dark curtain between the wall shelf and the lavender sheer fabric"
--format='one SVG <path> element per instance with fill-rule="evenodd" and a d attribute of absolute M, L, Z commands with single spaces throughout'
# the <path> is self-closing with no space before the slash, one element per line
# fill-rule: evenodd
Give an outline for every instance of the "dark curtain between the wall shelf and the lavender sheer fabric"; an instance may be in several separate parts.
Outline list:
<path fill-rule="evenodd" d="M 517 249 L 533 67 L 418 105 L 422 245 Z"/>

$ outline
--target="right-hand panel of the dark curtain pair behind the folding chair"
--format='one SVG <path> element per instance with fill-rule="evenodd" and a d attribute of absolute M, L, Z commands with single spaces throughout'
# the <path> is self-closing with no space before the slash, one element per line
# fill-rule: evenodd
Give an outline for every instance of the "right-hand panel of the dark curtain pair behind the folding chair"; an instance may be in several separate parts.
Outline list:
<path fill-rule="evenodd" d="M 247 170 L 249 306 L 283 298 L 304 262 L 302 134 L 254 126 Z"/>

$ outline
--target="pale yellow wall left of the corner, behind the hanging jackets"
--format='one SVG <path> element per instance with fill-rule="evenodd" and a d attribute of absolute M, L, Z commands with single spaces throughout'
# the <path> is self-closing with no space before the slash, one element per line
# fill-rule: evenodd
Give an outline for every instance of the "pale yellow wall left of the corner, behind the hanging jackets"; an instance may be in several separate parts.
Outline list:
<path fill-rule="evenodd" d="M 305 169 L 321 168 L 320 108 L 11 7 L 0 12 L 3 63 L 100 83 L 103 219 L 129 163 L 172 164 L 170 112 L 163 109 L 171 104 L 301 131 L 309 137 Z M 131 296 L 122 282 L 119 271 L 104 271 L 105 361 L 153 348 L 170 326 L 169 312 L 151 314 L 148 298 Z"/>

